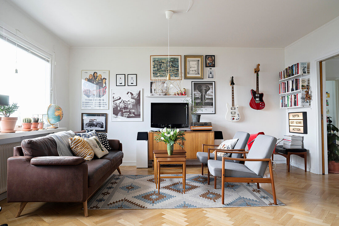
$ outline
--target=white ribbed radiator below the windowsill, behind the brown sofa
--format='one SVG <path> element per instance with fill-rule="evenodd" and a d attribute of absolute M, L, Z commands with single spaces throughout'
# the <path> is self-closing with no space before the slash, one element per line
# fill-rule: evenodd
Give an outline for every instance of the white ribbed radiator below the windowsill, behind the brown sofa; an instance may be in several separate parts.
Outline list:
<path fill-rule="evenodd" d="M 7 191 L 7 158 L 13 156 L 13 148 L 21 142 L 0 145 L 0 194 Z"/>

